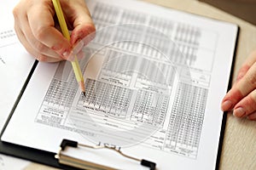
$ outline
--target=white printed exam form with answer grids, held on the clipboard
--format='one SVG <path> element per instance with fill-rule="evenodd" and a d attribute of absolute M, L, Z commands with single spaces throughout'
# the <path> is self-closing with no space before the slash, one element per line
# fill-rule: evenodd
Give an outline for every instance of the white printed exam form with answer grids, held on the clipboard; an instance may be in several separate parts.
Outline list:
<path fill-rule="evenodd" d="M 88 6 L 99 31 L 80 61 L 86 97 L 69 63 L 39 63 L 2 139 L 51 152 L 63 138 L 110 144 L 158 169 L 214 169 L 237 26 L 137 1 Z"/>

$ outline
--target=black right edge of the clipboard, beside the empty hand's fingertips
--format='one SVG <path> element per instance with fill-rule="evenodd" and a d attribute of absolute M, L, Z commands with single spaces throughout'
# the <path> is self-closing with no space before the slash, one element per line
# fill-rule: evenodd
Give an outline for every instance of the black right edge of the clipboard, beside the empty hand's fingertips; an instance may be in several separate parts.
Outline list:
<path fill-rule="evenodd" d="M 233 53 L 233 60 L 232 60 L 231 71 L 230 71 L 230 81 L 229 81 L 227 92 L 232 87 L 233 73 L 234 73 L 234 67 L 235 67 L 235 62 L 236 62 L 237 46 L 238 46 L 238 38 L 240 36 L 240 29 L 241 29 L 240 26 L 237 25 L 235 50 L 234 50 L 234 53 Z M 224 111 L 222 122 L 221 122 L 221 130 L 220 130 L 220 135 L 219 135 L 219 140 L 218 140 L 218 154 L 217 154 L 217 160 L 216 160 L 216 165 L 215 165 L 215 169 L 216 170 L 218 170 L 218 168 L 219 168 L 219 163 L 220 163 L 220 158 L 221 158 L 221 153 L 222 153 L 222 145 L 223 145 L 223 141 L 224 141 L 224 133 L 225 133 L 225 127 L 226 127 L 228 112 L 229 111 Z"/>

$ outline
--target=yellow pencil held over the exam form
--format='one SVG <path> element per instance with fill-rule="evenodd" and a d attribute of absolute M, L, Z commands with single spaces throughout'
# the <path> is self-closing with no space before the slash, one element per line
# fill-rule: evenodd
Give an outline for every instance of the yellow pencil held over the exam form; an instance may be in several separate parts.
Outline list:
<path fill-rule="evenodd" d="M 70 41 L 70 35 L 67 30 L 67 24 L 66 24 L 66 21 L 65 21 L 62 9 L 61 9 L 61 3 L 59 0 L 52 0 L 52 3 L 55 7 L 55 13 L 59 20 L 62 34 L 64 37 L 67 38 L 68 41 Z M 76 77 L 77 81 L 79 82 L 80 88 L 85 96 L 84 77 L 83 77 L 82 71 L 79 66 L 79 61 L 76 56 L 74 57 L 73 61 L 71 61 L 71 64 L 73 66 L 73 71 L 74 71 L 75 77 Z"/>

